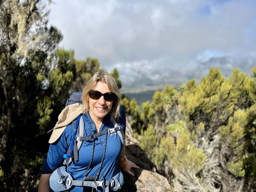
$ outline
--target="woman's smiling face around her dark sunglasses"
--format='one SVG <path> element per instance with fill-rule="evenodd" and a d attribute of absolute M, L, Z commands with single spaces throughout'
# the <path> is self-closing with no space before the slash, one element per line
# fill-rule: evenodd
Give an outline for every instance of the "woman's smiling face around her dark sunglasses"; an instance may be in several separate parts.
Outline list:
<path fill-rule="evenodd" d="M 111 92 L 108 85 L 103 82 L 98 82 L 92 89 L 97 90 L 101 93 Z M 104 100 L 103 95 L 98 100 L 93 100 L 88 96 L 89 99 L 89 114 L 93 121 L 103 121 L 103 118 L 110 112 L 113 101 Z"/>

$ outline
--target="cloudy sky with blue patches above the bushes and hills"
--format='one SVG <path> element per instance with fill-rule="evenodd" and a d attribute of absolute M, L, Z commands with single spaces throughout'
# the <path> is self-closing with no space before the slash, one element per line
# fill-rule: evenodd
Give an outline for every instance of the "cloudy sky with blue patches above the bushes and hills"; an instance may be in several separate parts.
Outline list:
<path fill-rule="evenodd" d="M 116 68 L 121 92 L 178 86 L 211 67 L 256 66 L 255 0 L 53 0 L 48 25 L 77 60 Z"/>

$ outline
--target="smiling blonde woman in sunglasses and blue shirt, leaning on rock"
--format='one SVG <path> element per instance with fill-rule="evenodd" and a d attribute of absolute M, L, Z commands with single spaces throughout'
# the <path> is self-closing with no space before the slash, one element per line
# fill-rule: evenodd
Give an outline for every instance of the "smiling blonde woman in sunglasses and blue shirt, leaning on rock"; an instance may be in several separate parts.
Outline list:
<path fill-rule="evenodd" d="M 98 72 L 92 76 L 84 87 L 82 101 L 83 106 L 79 110 L 83 111 L 81 119 L 84 123 L 85 136 L 114 128 L 113 120 L 121 124 L 121 131 L 125 133 L 125 112 L 120 107 L 121 95 L 115 79 L 108 73 Z M 67 120 L 68 117 L 65 119 Z M 52 172 L 61 166 L 63 154 L 66 154 L 71 142 L 72 123 L 62 130 L 60 138 L 57 141 L 53 139 L 54 143 L 50 145 L 38 185 L 39 192 L 50 191 L 49 178 Z M 54 131 L 50 140 L 60 135 L 56 137 L 57 134 Z M 124 153 L 125 146 L 119 134 L 116 132 L 104 134 L 95 139 L 83 141 L 78 152 L 79 160 L 72 161 L 67 166 L 67 172 L 74 180 L 90 180 L 92 177 L 93 181 L 108 181 L 119 168 L 134 176 L 130 169 L 139 167 L 127 160 Z M 70 191 L 82 192 L 83 187 L 73 186 Z M 92 191 L 92 187 L 84 187 L 84 191 Z M 102 192 L 103 188 L 98 186 L 98 191 Z"/>

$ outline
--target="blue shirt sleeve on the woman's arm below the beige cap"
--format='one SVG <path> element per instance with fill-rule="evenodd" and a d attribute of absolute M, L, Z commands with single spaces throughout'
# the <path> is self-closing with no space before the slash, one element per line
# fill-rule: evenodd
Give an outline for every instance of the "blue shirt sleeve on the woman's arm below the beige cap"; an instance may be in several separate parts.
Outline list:
<path fill-rule="evenodd" d="M 71 142 L 73 125 L 70 124 L 63 131 L 59 140 L 50 144 L 50 148 L 45 159 L 42 174 L 49 174 L 62 165 L 63 155 L 66 154 L 68 146 Z"/>

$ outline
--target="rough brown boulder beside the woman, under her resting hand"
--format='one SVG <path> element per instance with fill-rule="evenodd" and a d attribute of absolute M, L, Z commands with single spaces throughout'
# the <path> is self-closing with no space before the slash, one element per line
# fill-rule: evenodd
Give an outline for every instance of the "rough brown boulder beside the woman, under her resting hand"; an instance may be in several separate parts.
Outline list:
<path fill-rule="evenodd" d="M 165 177 L 155 172 L 155 166 L 133 138 L 131 125 L 127 121 L 125 155 L 140 168 L 132 170 L 134 177 L 124 173 L 125 183 L 120 192 L 177 192 Z"/>

